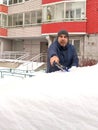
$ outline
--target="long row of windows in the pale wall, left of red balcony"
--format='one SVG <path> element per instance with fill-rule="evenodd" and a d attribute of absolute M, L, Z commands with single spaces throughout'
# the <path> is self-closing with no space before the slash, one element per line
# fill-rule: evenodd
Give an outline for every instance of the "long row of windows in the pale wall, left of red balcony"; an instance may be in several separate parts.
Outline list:
<path fill-rule="evenodd" d="M 39 24 L 41 22 L 41 10 L 8 15 L 8 27 L 29 26 L 33 24 Z"/>

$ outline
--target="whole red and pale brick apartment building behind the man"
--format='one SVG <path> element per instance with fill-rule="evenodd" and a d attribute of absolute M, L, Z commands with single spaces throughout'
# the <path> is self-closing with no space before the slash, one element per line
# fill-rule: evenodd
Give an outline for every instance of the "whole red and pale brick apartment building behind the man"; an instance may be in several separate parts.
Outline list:
<path fill-rule="evenodd" d="M 98 61 L 98 0 L 2 0 L 0 54 L 47 53 L 66 29 L 80 59 Z"/>

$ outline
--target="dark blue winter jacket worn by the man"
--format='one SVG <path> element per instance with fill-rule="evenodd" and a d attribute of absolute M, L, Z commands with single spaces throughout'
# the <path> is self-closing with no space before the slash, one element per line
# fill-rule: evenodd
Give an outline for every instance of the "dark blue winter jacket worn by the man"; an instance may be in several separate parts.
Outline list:
<path fill-rule="evenodd" d="M 60 64 L 64 67 L 78 67 L 78 56 L 72 44 L 68 43 L 65 47 L 62 47 L 56 40 L 50 45 L 50 47 L 48 48 L 47 73 L 59 70 L 56 66 L 51 66 L 50 58 L 52 56 L 58 56 Z"/>

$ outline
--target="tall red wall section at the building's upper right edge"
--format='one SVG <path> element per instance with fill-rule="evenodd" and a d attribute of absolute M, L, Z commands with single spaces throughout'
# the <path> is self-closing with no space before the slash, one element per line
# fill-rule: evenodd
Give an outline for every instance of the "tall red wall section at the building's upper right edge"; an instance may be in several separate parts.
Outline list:
<path fill-rule="evenodd" d="M 87 33 L 98 33 L 98 0 L 87 0 Z"/>

